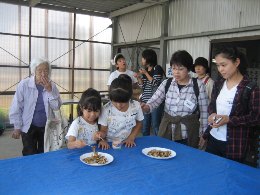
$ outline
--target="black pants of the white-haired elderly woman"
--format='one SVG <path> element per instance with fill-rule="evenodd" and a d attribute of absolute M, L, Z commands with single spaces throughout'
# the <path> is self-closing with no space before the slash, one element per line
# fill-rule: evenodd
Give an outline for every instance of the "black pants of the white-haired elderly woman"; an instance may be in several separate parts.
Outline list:
<path fill-rule="evenodd" d="M 22 132 L 23 155 L 43 153 L 45 127 L 30 126 L 27 133 Z"/>

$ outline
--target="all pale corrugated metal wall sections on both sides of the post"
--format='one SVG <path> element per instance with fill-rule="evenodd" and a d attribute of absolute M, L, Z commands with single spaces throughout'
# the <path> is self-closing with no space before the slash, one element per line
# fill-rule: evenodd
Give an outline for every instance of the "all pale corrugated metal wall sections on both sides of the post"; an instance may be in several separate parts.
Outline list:
<path fill-rule="evenodd" d="M 161 36 L 162 6 L 157 5 L 118 18 L 126 42 L 136 41 L 142 19 L 144 25 L 138 40 Z M 210 40 L 259 35 L 259 31 L 239 32 L 193 38 L 192 34 L 217 32 L 260 25 L 260 0 L 174 0 L 169 3 L 167 61 L 177 50 L 185 49 L 196 58 L 209 57 Z M 116 42 L 124 42 L 120 28 L 117 28 Z M 190 35 L 189 38 L 178 36 Z"/>

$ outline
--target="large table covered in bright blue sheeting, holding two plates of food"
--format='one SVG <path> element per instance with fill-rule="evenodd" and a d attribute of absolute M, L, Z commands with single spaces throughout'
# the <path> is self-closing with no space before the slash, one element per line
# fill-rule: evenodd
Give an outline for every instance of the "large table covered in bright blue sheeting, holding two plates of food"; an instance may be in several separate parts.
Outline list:
<path fill-rule="evenodd" d="M 93 167 L 79 156 L 90 147 L 0 160 L 0 194 L 259 194 L 260 170 L 156 136 L 134 148 L 109 149 L 111 164 Z M 168 160 L 146 147 L 176 151 Z"/>

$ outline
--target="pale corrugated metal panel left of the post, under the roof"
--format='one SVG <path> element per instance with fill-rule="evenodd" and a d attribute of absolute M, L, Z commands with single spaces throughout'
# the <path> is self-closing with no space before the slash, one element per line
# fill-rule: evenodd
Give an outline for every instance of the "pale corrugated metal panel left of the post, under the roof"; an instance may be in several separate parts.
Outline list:
<path fill-rule="evenodd" d="M 147 12 L 147 13 L 146 13 Z M 144 19 L 144 23 L 140 34 L 139 29 Z M 162 20 L 162 6 L 149 7 L 130 14 L 122 15 L 118 18 L 121 26 L 117 27 L 117 43 L 124 43 L 138 40 L 153 39 L 161 36 L 161 20 Z M 123 33 L 123 35 L 122 35 Z M 123 39 L 125 37 L 125 41 Z"/>

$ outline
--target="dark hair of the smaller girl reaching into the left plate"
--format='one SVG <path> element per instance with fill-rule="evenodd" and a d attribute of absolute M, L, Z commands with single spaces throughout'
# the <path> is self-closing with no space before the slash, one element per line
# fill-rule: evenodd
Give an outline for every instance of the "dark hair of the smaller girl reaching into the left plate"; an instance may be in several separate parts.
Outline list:
<path fill-rule="evenodd" d="M 77 106 L 78 116 L 83 115 L 82 109 L 88 109 L 93 111 L 100 111 L 101 110 L 101 96 L 100 93 L 93 89 L 89 88 L 84 91 L 81 95 Z"/>

